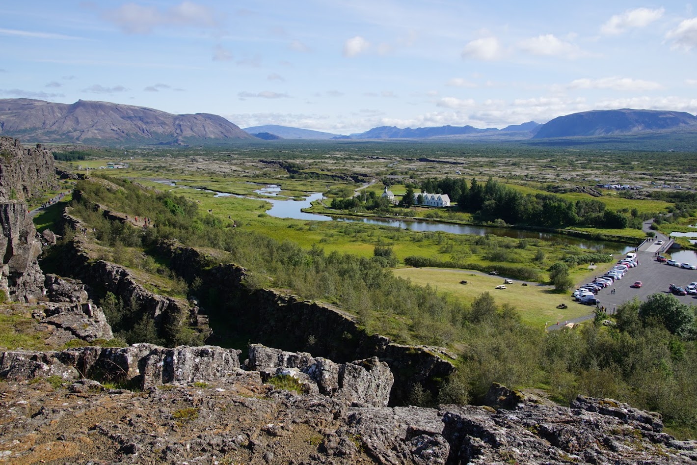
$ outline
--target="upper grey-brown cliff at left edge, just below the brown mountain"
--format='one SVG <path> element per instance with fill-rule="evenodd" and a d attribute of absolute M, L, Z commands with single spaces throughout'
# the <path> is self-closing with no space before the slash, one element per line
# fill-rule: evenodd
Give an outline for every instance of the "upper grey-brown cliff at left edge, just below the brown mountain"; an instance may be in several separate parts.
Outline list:
<path fill-rule="evenodd" d="M 26 200 L 56 188 L 51 152 L 41 144 L 24 148 L 19 139 L 0 137 L 0 199 Z"/>

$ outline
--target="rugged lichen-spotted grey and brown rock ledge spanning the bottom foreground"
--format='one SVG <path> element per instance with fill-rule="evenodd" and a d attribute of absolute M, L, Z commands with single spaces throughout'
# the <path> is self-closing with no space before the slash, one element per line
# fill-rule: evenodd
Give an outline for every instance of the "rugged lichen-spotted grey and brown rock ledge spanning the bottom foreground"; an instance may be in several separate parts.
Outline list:
<path fill-rule="evenodd" d="M 307 393 L 275 390 L 278 374 Z M 242 364 L 214 346 L 7 351 L 0 376 L 7 464 L 697 462 L 697 443 L 664 434 L 658 414 L 611 399 L 569 409 L 499 388 L 506 408 L 387 407 L 392 374 L 377 359 L 338 365 L 256 344 Z"/>

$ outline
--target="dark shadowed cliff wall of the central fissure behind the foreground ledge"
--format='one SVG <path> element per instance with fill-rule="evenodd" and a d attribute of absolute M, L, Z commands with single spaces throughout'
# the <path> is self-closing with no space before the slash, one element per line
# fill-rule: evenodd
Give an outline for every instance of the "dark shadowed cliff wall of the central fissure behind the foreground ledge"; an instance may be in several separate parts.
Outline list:
<path fill-rule="evenodd" d="M 248 289 L 245 268 L 211 267 L 210 258 L 191 247 L 163 243 L 160 252 L 187 280 L 201 277 L 200 293 L 207 296 L 206 306 L 215 309 L 209 317 L 217 333 L 249 335 L 261 344 L 310 351 L 339 363 L 378 357 L 395 375 L 392 404 L 403 404 L 413 383 L 436 391 L 438 380 L 454 372 L 454 356 L 442 348 L 395 344 L 388 337 L 367 335 L 351 314 L 330 305 L 273 289 Z M 215 333 L 211 341 L 216 341 Z"/>

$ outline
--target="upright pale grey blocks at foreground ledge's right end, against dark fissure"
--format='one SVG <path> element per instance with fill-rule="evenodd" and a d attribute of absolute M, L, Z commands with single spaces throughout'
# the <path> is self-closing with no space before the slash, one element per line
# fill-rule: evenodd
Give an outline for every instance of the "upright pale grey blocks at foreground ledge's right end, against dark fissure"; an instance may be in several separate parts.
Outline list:
<path fill-rule="evenodd" d="M 395 381 L 388 365 L 377 357 L 339 365 L 309 353 L 286 352 L 261 344 L 250 345 L 245 365 L 262 374 L 289 374 L 299 381 L 307 376 L 319 393 L 348 404 L 387 406 Z"/>

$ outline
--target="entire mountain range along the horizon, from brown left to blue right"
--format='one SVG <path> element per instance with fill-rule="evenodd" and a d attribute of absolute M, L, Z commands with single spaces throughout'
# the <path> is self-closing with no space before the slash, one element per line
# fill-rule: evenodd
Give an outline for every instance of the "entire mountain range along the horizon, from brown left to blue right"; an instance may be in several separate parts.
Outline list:
<path fill-rule="evenodd" d="M 634 140 L 637 136 L 643 140 L 661 139 L 670 146 L 670 140 L 675 137 L 687 141 L 685 144 L 697 137 L 697 116 L 685 112 L 613 109 L 559 116 L 545 124 L 529 121 L 503 129 L 480 129 L 470 125 L 415 129 L 381 126 L 347 136 L 282 125 L 242 130 L 215 114 L 169 114 L 110 102 L 78 100 L 68 105 L 7 98 L 0 99 L 0 135 L 20 137 L 29 142 L 103 145 L 224 144 L 240 139 L 257 142 L 277 139 L 424 139 L 578 145 L 594 138 L 609 140 L 631 135 Z"/>

